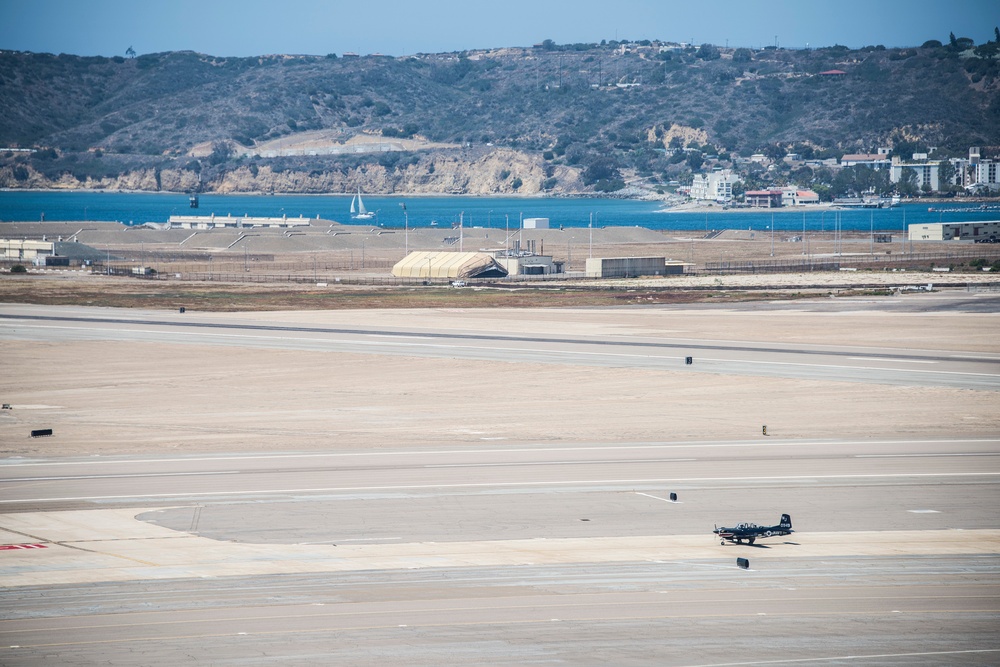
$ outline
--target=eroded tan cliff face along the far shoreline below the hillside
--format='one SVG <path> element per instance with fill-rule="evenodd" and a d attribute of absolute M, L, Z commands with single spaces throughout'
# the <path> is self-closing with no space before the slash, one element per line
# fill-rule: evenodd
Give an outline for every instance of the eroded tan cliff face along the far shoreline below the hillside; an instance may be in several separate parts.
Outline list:
<path fill-rule="evenodd" d="M 551 176 L 548 176 L 551 174 Z M 424 156 L 405 166 L 379 163 L 348 169 L 283 168 L 270 164 L 234 163 L 213 170 L 202 178 L 185 168 L 138 168 L 104 178 L 80 180 L 68 172 L 46 176 L 31 165 L 0 167 L 0 187 L 10 189 L 88 189 L 186 192 L 200 190 L 220 194 L 236 192 L 366 193 L 412 192 L 421 194 L 522 194 L 542 192 L 546 179 L 554 178 L 549 192 L 565 194 L 583 189 L 579 169 L 558 166 L 546 169 L 538 156 L 509 149 L 485 154 L 444 152 Z"/>

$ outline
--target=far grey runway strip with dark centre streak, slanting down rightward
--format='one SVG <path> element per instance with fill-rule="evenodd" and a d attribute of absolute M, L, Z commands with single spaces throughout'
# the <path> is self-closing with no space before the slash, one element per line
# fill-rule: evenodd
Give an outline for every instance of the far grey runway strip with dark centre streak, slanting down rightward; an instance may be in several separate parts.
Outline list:
<path fill-rule="evenodd" d="M 332 328 L 246 323 L 195 314 L 122 317 L 118 313 L 58 312 L 7 308 L 0 312 L 0 338 L 209 344 L 1000 390 L 1000 354 L 995 353 L 683 338 L 596 339 L 389 327 Z M 685 363 L 688 357 L 693 363 Z"/>

